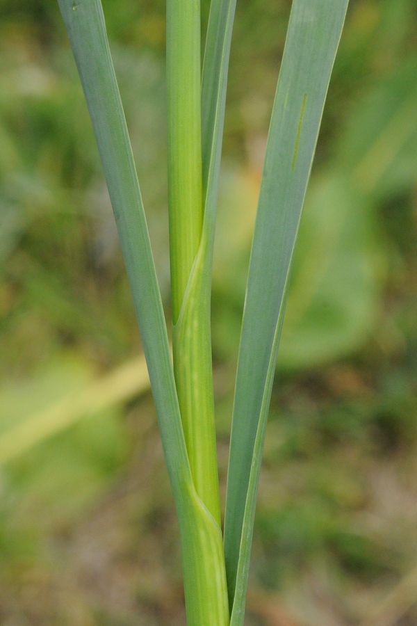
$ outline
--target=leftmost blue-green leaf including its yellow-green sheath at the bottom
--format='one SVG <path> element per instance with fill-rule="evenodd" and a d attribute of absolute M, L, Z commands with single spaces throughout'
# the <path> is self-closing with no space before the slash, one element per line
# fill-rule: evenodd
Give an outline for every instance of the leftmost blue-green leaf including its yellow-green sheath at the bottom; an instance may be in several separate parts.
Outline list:
<path fill-rule="evenodd" d="M 103 163 L 136 308 L 179 518 L 189 626 L 227 626 L 220 527 L 197 496 L 188 463 L 136 168 L 100 0 L 58 0 Z"/>

